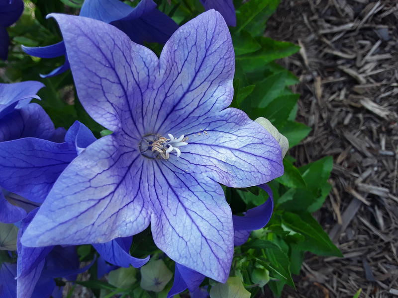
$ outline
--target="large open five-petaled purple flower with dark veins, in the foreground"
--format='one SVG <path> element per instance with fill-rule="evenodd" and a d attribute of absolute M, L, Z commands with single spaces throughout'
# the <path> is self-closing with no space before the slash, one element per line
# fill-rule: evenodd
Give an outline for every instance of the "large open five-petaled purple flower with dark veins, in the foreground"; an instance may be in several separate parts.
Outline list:
<path fill-rule="evenodd" d="M 219 183 L 259 185 L 283 165 L 276 140 L 227 108 L 234 53 L 224 19 L 209 10 L 189 21 L 158 59 L 106 23 L 52 16 L 83 106 L 113 134 L 69 164 L 22 243 L 102 243 L 151 224 L 170 258 L 225 282 L 234 232 Z"/>

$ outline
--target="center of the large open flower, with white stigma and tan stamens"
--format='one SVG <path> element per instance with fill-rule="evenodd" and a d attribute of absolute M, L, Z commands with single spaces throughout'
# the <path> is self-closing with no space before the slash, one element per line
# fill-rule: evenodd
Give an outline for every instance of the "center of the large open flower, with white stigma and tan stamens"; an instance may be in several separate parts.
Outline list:
<path fill-rule="evenodd" d="M 170 153 L 177 153 L 177 157 L 180 157 L 181 150 L 179 147 L 186 146 L 188 143 L 188 137 L 184 138 L 184 135 L 180 138 L 174 138 L 172 134 L 168 134 L 169 139 L 160 135 L 146 135 L 142 138 L 139 149 L 142 155 L 150 158 L 163 158 L 169 159 Z"/>

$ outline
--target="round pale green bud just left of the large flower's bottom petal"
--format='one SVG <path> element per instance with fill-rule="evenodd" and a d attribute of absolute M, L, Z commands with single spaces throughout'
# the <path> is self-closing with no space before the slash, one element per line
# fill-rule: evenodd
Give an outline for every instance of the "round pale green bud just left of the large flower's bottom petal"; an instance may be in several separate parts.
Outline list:
<path fill-rule="evenodd" d="M 161 292 L 172 277 L 163 260 L 151 260 L 141 267 L 140 286 L 147 291 Z"/>

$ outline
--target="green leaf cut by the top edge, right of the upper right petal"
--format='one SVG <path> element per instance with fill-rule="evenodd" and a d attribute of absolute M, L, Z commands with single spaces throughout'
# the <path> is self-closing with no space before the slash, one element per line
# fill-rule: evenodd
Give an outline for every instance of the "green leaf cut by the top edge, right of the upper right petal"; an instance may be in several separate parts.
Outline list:
<path fill-rule="evenodd" d="M 265 23 L 278 7 L 279 0 L 250 0 L 236 11 L 236 30 L 243 29 L 253 36 L 261 35 Z"/>

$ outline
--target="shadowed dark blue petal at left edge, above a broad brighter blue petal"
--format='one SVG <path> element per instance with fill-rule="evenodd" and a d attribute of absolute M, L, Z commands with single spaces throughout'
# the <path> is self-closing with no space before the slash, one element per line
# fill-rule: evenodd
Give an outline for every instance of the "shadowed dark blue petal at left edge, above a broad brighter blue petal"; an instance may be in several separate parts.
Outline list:
<path fill-rule="evenodd" d="M 0 142 L 27 137 L 49 140 L 54 132 L 53 122 L 37 103 L 15 109 L 0 121 Z"/>

